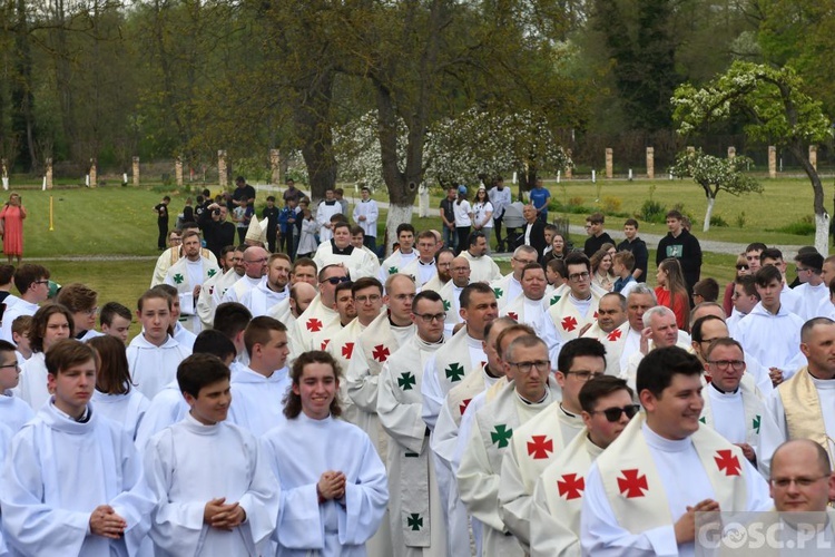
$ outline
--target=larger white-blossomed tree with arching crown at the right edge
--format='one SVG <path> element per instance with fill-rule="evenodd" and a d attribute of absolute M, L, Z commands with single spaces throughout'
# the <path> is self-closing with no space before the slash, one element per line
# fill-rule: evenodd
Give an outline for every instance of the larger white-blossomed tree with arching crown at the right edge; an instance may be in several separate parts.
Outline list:
<path fill-rule="evenodd" d="M 808 144 L 832 137 L 831 121 L 821 102 L 804 92 L 804 82 L 790 67 L 772 68 L 736 61 L 701 89 L 689 84 L 676 89 L 674 119 L 679 134 L 704 129 L 710 123 L 739 115 L 754 139 L 787 148 L 809 177 L 814 192 L 815 247 L 829 253 L 829 214 L 824 208 L 824 186 L 808 158 Z"/>

